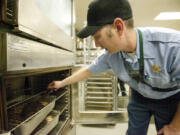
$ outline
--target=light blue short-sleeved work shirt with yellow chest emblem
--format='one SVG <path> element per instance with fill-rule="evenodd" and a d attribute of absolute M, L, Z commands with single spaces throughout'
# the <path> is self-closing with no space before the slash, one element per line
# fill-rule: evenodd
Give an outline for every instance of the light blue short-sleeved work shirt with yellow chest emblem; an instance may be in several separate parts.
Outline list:
<path fill-rule="evenodd" d="M 137 29 L 137 46 L 133 59 L 125 52 L 119 51 L 110 54 L 105 51 L 88 68 L 92 74 L 98 74 L 112 69 L 120 80 L 141 95 L 151 99 L 164 99 L 180 91 L 180 89 L 169 92 L 152 90 L 156 88 L 180 87 L 180 32 L 167 28 L 146 27 L 138 28 L 143 35 L 144 47 L 144 81 L 137 81 L 129 76 L 129 70 L 139 70 L 139 36 Z M 123 60 L 128 63 L 124 64 Z M 150 86 L 149 86 L 150 85 Z"/>

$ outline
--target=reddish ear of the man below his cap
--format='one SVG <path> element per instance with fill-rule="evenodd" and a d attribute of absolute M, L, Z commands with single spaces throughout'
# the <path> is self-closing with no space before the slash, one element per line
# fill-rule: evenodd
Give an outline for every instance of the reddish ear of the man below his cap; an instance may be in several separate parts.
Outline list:
<path fill-rule="evenodd" d="M 113 22 L 114 27 L 116 28 L 117 32 L 122 35 L 124 30 L 123 20 L 121 18 L 115 18 Z"/>

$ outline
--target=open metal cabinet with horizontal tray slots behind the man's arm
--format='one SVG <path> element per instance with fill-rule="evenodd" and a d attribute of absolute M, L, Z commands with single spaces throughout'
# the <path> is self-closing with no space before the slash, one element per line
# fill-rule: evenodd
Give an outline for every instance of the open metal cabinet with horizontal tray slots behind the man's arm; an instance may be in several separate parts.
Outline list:
<path fill-rule="evenodd" d="M 74 69 L 77 70 L 78 67 Z M 72 87 L 75 124 L 115 124 L 127 121 L 129 87 L 122 94 L 117 77 L 110 72 L 91 76 Z"/>

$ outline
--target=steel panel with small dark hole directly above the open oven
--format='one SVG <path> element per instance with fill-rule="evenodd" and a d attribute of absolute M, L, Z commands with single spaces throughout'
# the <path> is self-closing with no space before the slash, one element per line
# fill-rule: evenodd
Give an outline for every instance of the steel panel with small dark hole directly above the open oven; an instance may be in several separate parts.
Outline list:
<path fill-rule="evenodd" d="M 72 66 L 75 62 L 72 52 L 12 34 L 1 38 L 0 49 L 0 69 L 8 72 Z"/>

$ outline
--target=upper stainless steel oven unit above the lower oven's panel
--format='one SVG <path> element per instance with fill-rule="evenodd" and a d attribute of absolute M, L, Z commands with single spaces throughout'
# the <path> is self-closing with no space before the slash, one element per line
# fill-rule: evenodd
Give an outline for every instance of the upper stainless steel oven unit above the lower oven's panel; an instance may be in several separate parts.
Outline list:
<path fill-rule="evenodd" d="M 3 0 L 3 21 L 22 32 L 73 51 L 72 0 Z"/>

